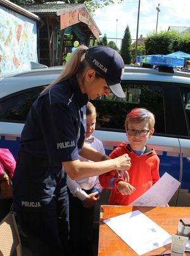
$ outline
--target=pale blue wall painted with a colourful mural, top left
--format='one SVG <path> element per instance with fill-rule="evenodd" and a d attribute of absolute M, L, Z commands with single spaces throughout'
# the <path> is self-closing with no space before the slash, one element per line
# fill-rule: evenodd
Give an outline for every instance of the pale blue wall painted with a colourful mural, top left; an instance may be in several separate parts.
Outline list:
<path fill-rule="evenodd" d="M 0 5 L 1 73 L 30 68 L 37 62 L 37 24 L 34 20 Z"/>

